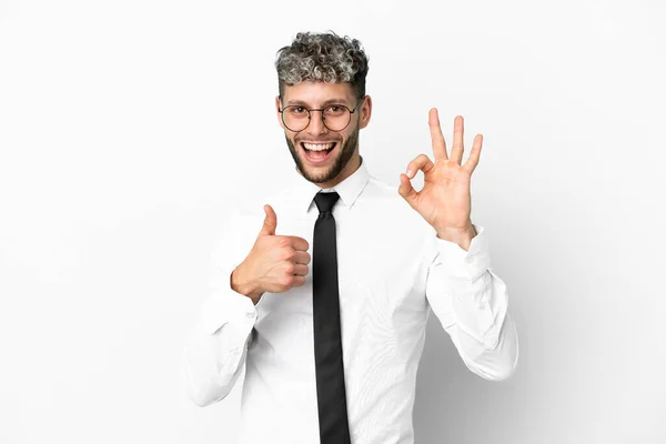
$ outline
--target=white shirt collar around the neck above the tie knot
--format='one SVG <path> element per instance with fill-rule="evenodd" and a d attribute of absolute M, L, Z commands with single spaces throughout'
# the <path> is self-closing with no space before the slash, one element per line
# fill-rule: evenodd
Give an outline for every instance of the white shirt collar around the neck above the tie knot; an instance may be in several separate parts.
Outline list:
<path fill-rule="evenodd" d="M 347 209 L 351 209 L 356 202 L 359 195 L 361 195 L 361 192 L 365 188 L 365 184 L 367 183 L 367 180 L 370 178 L 365 162 L 363 162 L 363 157 L 360 155 L 360 158 L 361 165 L 356 169 L 356 171 L 354 171 L 349 178 L 346 178 L 332 189 L 322 189 L 317 184 L 312 183 L 307 179 L 303 178 L 294 169 L 295 178 L 292 185 L 292 192 L 290 194 L 294 200 L 293 204 L 295 210 L 297 212 L 302 211 L 303 213 L 307 213 L 310 211 L 310 208 L 315 205 L 313 201 L 314 195 L 322 190 L 336 191 L 337 194 L 340 194 L 340 200 L 342 204 Z"/>

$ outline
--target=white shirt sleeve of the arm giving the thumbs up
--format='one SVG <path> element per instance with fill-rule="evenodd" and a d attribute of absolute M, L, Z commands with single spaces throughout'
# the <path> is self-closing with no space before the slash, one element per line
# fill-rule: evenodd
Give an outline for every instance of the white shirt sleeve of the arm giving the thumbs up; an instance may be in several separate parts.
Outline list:
<path fill-rule="evenodd" d="M 182 352 L 188 395 L 200 406 L 221 401 L 233 389 L 256 321 L 252 300 L 231 289 L 231 273 L 250 252 L 240 242 L 241 228 L 241 213 L 234 211 L 220 230 L 211 254 L 210 293 Z"/>

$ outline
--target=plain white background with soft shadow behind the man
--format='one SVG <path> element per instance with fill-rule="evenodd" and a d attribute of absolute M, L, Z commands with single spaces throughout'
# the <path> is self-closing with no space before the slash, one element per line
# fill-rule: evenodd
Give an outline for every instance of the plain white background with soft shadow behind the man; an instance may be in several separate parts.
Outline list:
<path fill-rule="evenodd" d="M 329 29 L 370 56 L 373 175 L 432 155 L 431 107 L 450 143 L 465 118 L 464 160 L 484 134 L 472 220 L 521 359 L 484 381 L 431 317 L 416 442 L 666 442 L 664 19 L 657 0 L 2 0 L 0 442 L 233 442 L 240 385 L 196 407 L 181 351 L 229 208 L 294 174 L 275 52 Z"/>

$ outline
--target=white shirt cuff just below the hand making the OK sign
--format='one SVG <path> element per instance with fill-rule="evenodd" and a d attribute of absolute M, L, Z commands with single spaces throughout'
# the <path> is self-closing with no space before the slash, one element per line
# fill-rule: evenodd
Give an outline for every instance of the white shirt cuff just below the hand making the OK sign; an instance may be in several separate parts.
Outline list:
<path fill-rule="evenodd" d="M 491 254 L 485 229 L 474 225 L 476 235 L 467 251 L 457 243 L 435 238 L 437 242 L 437 264 L 442 264 L 444 273 L 452 278 L 475 281 L 491 268 Z"/>

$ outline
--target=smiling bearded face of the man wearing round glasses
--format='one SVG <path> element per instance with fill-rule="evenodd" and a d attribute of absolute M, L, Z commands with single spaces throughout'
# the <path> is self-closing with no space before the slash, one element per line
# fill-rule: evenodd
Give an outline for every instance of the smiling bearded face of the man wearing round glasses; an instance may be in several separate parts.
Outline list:
<path fill-rule="evenodd" d="M 330 104 L 343 104 L 350 110 L 359 103 L 354 97 L 350 83 L 324 83 L 324 82 L 302 82 L 295 85 L 285 85 L 282 103 L 276 98 L 276 107 L 283 109 L 289 105 L 301 105 L 306 109 L 323 109 Z M 365 108 L 365 109 L 364 109 Z M 370 117 L 369 107 L 361 104 L 355 112 L 351 114 L 350 124 L 342 131 L 332 131 L 322 122 L 321 111 L 312 111 L 307 127 L 302 131 L 291 131 L 285 128 L 280 117 L 280 123 L 284 129 L 284 137 L 289 150 L 296 163 L 301 174 L 317 184 L 330 184 L 339 182 L 335 180 L 345 170 L 350 160 L 357 157 L 359 130 L 367 124 Z M 365 114 L 363 114 L 365 111 Z M 363 115 L 362 115 L 363 114 Z M 305 147 L 313 144 L 332 143 L 333 148 L 324 159 L 310 154 L 312 150 Z M 347 172 L 346 175 L 349 175 Z"/>

